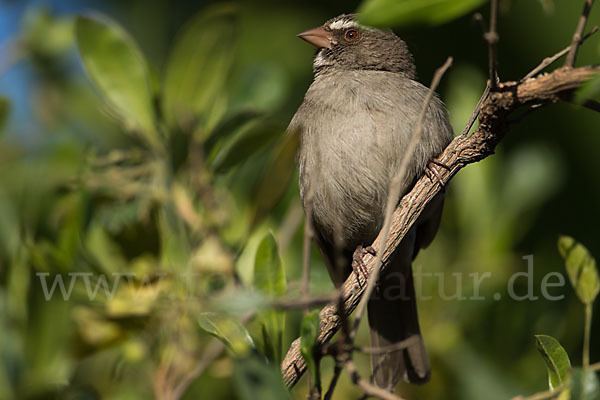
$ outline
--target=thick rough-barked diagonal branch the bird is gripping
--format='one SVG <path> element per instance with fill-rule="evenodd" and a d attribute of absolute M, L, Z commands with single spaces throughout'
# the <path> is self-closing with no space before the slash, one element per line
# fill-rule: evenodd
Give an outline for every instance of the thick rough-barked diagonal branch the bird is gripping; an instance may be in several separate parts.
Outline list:
<path fill-rule="evenodd" d="M 560 68 L 550 74 L 530 79 L 526 82 L 500 83 L 483 101 L 479 116 L 480 124 L 472 135 L 457 136 L 440 154 L 437 161 L 448 166 L 440 169 L 440 181 L 445 186 L 465 165 L 477 162 L 494 153 L 496 145 L 502 140 L 508 129 L 507 117 L 522 106 L 549 104 L 568 100 L 574 89 L 600 71 L 600 66 L 581 68 Z M 380 233 L 373 247 L 385 249 L 382 254 L 382 268 L 385 270 L 388 260 L 400 241 L 417 220 L 423 209 L 441 190 L 438 181 L 422 176 L 412 190 L 405 195 L 392 217 L 391 234 L 383 243 Z M 375 266 L 375 257 L 366 252 L 362 256 L 368 274 Z M 346 315 L 356 308 L 365 291 L 368 276 L 350 274 L 341 287 Z M 335 303 L 327 305 L 320 313 L 321 324 L 318 344 L 327 343 L 340 327 L 340 315 Z M 300 353 L 300 339 L 292 342 L 281 364 L 283 381 L 288 387 L 300 379 L 306 364 Z"/>

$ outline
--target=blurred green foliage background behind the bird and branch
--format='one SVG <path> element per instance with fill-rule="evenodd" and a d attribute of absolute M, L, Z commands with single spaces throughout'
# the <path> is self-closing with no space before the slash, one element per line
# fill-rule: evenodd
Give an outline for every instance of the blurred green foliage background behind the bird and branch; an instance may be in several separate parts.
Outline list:
<path fill-rule="evenodd" d="M 501 78 L 518 79 L 569 44 L 580 3 L 502 1 Z M 283 129 L 311 82 L 314 50 L 295 35 L 356 10 L 359 2 L 240 1 L 234 19 L 209 25 L 203 40 L 191 40 L 201 54 L 188 54 L 201 60 L 218 54 L 223 64 L 199 62 L 193 65 L 199 71 L 185 75 L 198 72 L 202 78 L 183 87 L 212 84 L 213 91 L 203 92 L 206 104 L 191 120 L 159 126 L 168 133 L 157 148 L 115 118 L 75 46 L 76 14 L 110 16 L 148 59 L 154 93 L 164 93 L 161 82 L 179 32 L 195 13 L 215 5 L 0 2 L 0 95 L 11 104 L 3 128 L 0 120 L 1 399 L 141 399 L 164 392 L 197 365 L 210 341 L 198 326 L 202 312 L 240 317 L 262 304 L 249 282 L 256 247 L 269 230 L 283 258 L 287 293 L 298 294 L 301 212 L 293 156 L 281 146 Z M 481 11 L 487 14 L 486 7 Z M 486 79 L 487 49 L 471 14 L 396 29 L 413 50 L 425 84 L 448 55 L 454 57 L 439 92 L 455 131 L 470 116 Z M 590 22 L 599 21 L 596 7 Z M 593 37 L 578 63 L 599 58 L 600 39 Z M 558 234 L 600 254 L 598 126 L 600 115 L 576 106 L 539 110 L 512 128 L 497 155 L 453 180 L 438 237 L 415 264 L 445 272 L 448 294 L 455 290 L 452 272 L 489 271 L 492 277 L 481 287 L 485 301 L 434 296 L 420 303 L 433 375 L 428 385 L 401 387 L 407 398 L 478 399 L 485 393 L 507 399 L 543 390 L 547 377 L 534 334 L 556 337 L 580 364 L 583 312 L 577 299 L 568 284 L 551 289 L 565 296 L 560 301 L 542 298 L 539 287 L 545 274 L 563 272 Z M 511 300 L 506 282 L 526 270 L 522 257 L 530 254 L 540 298 Z M 320 264 L 313 252 L 312 293 L 331 289 Z M 142 288 L 137 299 L 119 286 L 113 299 L 99 295 L 90 301 L 77 283 L 71 300 L 46 301 L 40 272 L 166 278 L 156 298 L 136 281 Z M 181 279 L 183 272 L 197 275 Z M 465 275 L 467 296 L 469 282 Z M 438 290 L 437 281 L 424 281 L 426 294 Z M 517 292 L 526 290 L 522 281 Z M 495 293 L 502 299 L 494 300 Z M 287 313 L 284 349 L 298 335 L 300 318 L 300 312 Z M 594 318 L 592 332 L 599 325 Z M 260 343 L 260 326 L 253 320 L 248 327 Z M 367 342 L 366 332 L 359 341 Z M 591 345 L 591 360 L 598 361 L 600 344 L 592 339 Z M 358 360 L 367 374 L 367 358 Z M 238 364 L 224 353 L 184 398 L 242 397 L 249 384 L 244 371 L 254 366 Z M 327 382 L 330 363 L 324 371 Z M 339 398 L 356 396 L 347 377 L 342 379 Z M 252 391 L 273 382 L 259 379 Z M 292 396 L 302 398 L 305 388 L 303 380 Z"/>

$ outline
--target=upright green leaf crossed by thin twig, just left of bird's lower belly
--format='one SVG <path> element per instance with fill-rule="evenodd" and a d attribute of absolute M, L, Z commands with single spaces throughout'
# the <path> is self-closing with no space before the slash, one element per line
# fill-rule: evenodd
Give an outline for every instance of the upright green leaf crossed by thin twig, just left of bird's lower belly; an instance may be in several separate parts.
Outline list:
<path fill-rule="evenodd" d="M 275 237 L 269 232 L 256 250 L 254 263 L 254 285 L 267 298 L 283 296 L 287 292 L 285 269 L 279 256 Z M 263 311 L 260 313 L 263 324 L 265 353 L 277 363 L 281 361 L 285 313 L 282 311 Z"/>

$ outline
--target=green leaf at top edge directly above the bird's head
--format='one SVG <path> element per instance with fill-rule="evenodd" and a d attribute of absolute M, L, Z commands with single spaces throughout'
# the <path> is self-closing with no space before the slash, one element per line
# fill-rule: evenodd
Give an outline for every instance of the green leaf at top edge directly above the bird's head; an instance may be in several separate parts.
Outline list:
<path fill-rule="evenodd" d="M 475 10 L 485 0 L 364 0 L 358 8 L 370 26 L 437 25 Z"/>

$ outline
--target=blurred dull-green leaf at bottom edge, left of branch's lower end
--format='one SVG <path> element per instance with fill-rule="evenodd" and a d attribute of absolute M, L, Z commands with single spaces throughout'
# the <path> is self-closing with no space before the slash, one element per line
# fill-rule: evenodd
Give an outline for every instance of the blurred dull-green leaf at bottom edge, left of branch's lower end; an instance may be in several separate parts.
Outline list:
<path fill-rule="evenodd" d="M 283 386 L 278 365 L 267 364 L 258 355 L 236 360 L 234 382 L 241 400 L 280 400 L 290 395 Z"/>

